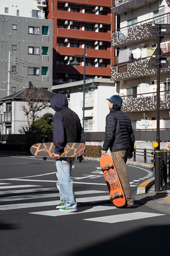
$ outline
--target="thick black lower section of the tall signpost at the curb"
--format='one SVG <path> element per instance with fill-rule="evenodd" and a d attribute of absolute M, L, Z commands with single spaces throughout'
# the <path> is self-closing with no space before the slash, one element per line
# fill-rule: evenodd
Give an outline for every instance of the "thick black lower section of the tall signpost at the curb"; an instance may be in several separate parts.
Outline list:
<path fill-rule="evenodd" d="M 155 192 L 161 191 L 161 151 L 155 150 Z"/>

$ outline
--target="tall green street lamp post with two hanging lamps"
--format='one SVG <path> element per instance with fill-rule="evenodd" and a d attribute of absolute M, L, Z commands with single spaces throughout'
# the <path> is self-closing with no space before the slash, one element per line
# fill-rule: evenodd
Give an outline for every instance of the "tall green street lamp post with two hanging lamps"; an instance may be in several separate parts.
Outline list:
<path fill-rule="evenodd" d="M 86 83 L 86 45 L 84 44 L 84 55 L 74 55 L 75 59 L 74 61 L 71 63 L 71 65 L 73 67 L 77 67 L 78 65 L 80 65 L 80 63 L 77 61 L 76 57 L 81 57 L 82 60 L 84 61 L 84 70 L 83 70 L 83 131 L 84 131 L 84 107 L 85 107 L 85 83 Z M 93 79 L 93 83 L 89 86 L 89 88 L 91 88 L 91 90 L 95 90 L 97 88 L 97 86 L 94 83 L 94 78 Z M 85 142 L 85 138 L 83 137 L 83 143 Z"/>

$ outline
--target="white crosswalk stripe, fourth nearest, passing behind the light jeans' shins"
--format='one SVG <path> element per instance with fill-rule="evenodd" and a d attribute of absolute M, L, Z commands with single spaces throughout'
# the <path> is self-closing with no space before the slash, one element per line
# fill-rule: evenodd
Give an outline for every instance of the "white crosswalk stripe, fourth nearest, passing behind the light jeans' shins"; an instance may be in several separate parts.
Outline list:
<path fill-rule="evenodd" d="M 76 191 L 75 195 L 87 195 L 87 194 L 98 194 L 98 193 L 107 193 L 106 191 L 98 190 L 85 190 L 85 191 Z M 53 194 L 39 194 L 39 195 L 21 195 L 21 196 L 9 196 L 5 198 L 0 198 L 0 202 L 11 202 L 11 201 L 20 201 L 20 200 L 30 200 L 30 199 L 40 199 L 40 198 L 56 198 L 59 196 L 59 193 Z"/>

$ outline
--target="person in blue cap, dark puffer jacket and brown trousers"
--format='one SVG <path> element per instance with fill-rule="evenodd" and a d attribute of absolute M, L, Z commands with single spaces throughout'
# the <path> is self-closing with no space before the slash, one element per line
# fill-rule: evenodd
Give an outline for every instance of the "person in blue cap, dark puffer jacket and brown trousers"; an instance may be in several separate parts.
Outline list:
<path fill-rule="evenodd" d="M 135 136 L 132 130 L 131 120 L 121 111 L 122 98 L 119 95 L 113 95 L 108 100 L 110 113 L 106 116 L 106 138 L 102 147 L 104 157 L 107 156 L 107 150 L 110 149 L 111 156 L 115 163 L 117 173 L 126 198 L 126 205 L 133 205 L 133 199 L 130 197 L 130 185 L 126 162 L 133 156 Z"/>

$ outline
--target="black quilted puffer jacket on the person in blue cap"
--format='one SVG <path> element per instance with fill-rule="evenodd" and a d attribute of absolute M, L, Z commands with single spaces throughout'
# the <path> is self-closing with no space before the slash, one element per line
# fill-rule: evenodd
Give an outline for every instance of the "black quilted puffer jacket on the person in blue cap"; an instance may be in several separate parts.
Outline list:
<path fill-rule="evenodd" d="M 111 109 L 106 116 L 106 138 L 102 150 L 134 150 L 135 137 L 130 118 L 121 110 Z"/>

